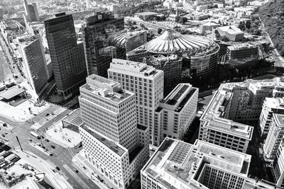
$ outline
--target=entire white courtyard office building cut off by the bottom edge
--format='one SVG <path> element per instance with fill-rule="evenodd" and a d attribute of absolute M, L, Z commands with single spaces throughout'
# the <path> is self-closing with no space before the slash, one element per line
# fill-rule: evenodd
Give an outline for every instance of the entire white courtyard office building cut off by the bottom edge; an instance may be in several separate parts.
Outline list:
<path fill-rule="evenodd" d="M 142 189 L 269 188 L 248 178 L 251 156 L 196 140 L 165 138 L 141 170 Z"/>

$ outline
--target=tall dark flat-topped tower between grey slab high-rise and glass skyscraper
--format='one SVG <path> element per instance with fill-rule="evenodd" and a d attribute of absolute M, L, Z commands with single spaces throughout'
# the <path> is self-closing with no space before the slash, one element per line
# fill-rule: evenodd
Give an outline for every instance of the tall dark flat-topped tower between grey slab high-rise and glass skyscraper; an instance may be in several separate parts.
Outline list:
<path fill-rule="evenodd" d="M 72 15 L 58 13 L 45 20 L 45 33 L 58 93 L 68 98 L 79 91 L 86 78 L 84 47 L 77 42 Z"/>

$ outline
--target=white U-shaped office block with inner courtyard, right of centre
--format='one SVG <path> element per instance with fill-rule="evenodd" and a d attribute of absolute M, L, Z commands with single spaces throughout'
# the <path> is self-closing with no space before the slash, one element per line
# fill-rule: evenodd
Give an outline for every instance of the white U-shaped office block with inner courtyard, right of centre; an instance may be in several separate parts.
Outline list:
<path fill-rule="evenodd" d="M 199 139 L 246 153 L 253 136 L 253 127 L 228 118 L 231 106 L 238 101 L 249 101 L 248 94 L 247 88 L 240 83 L 222 84 L 200 118 Z"/>

